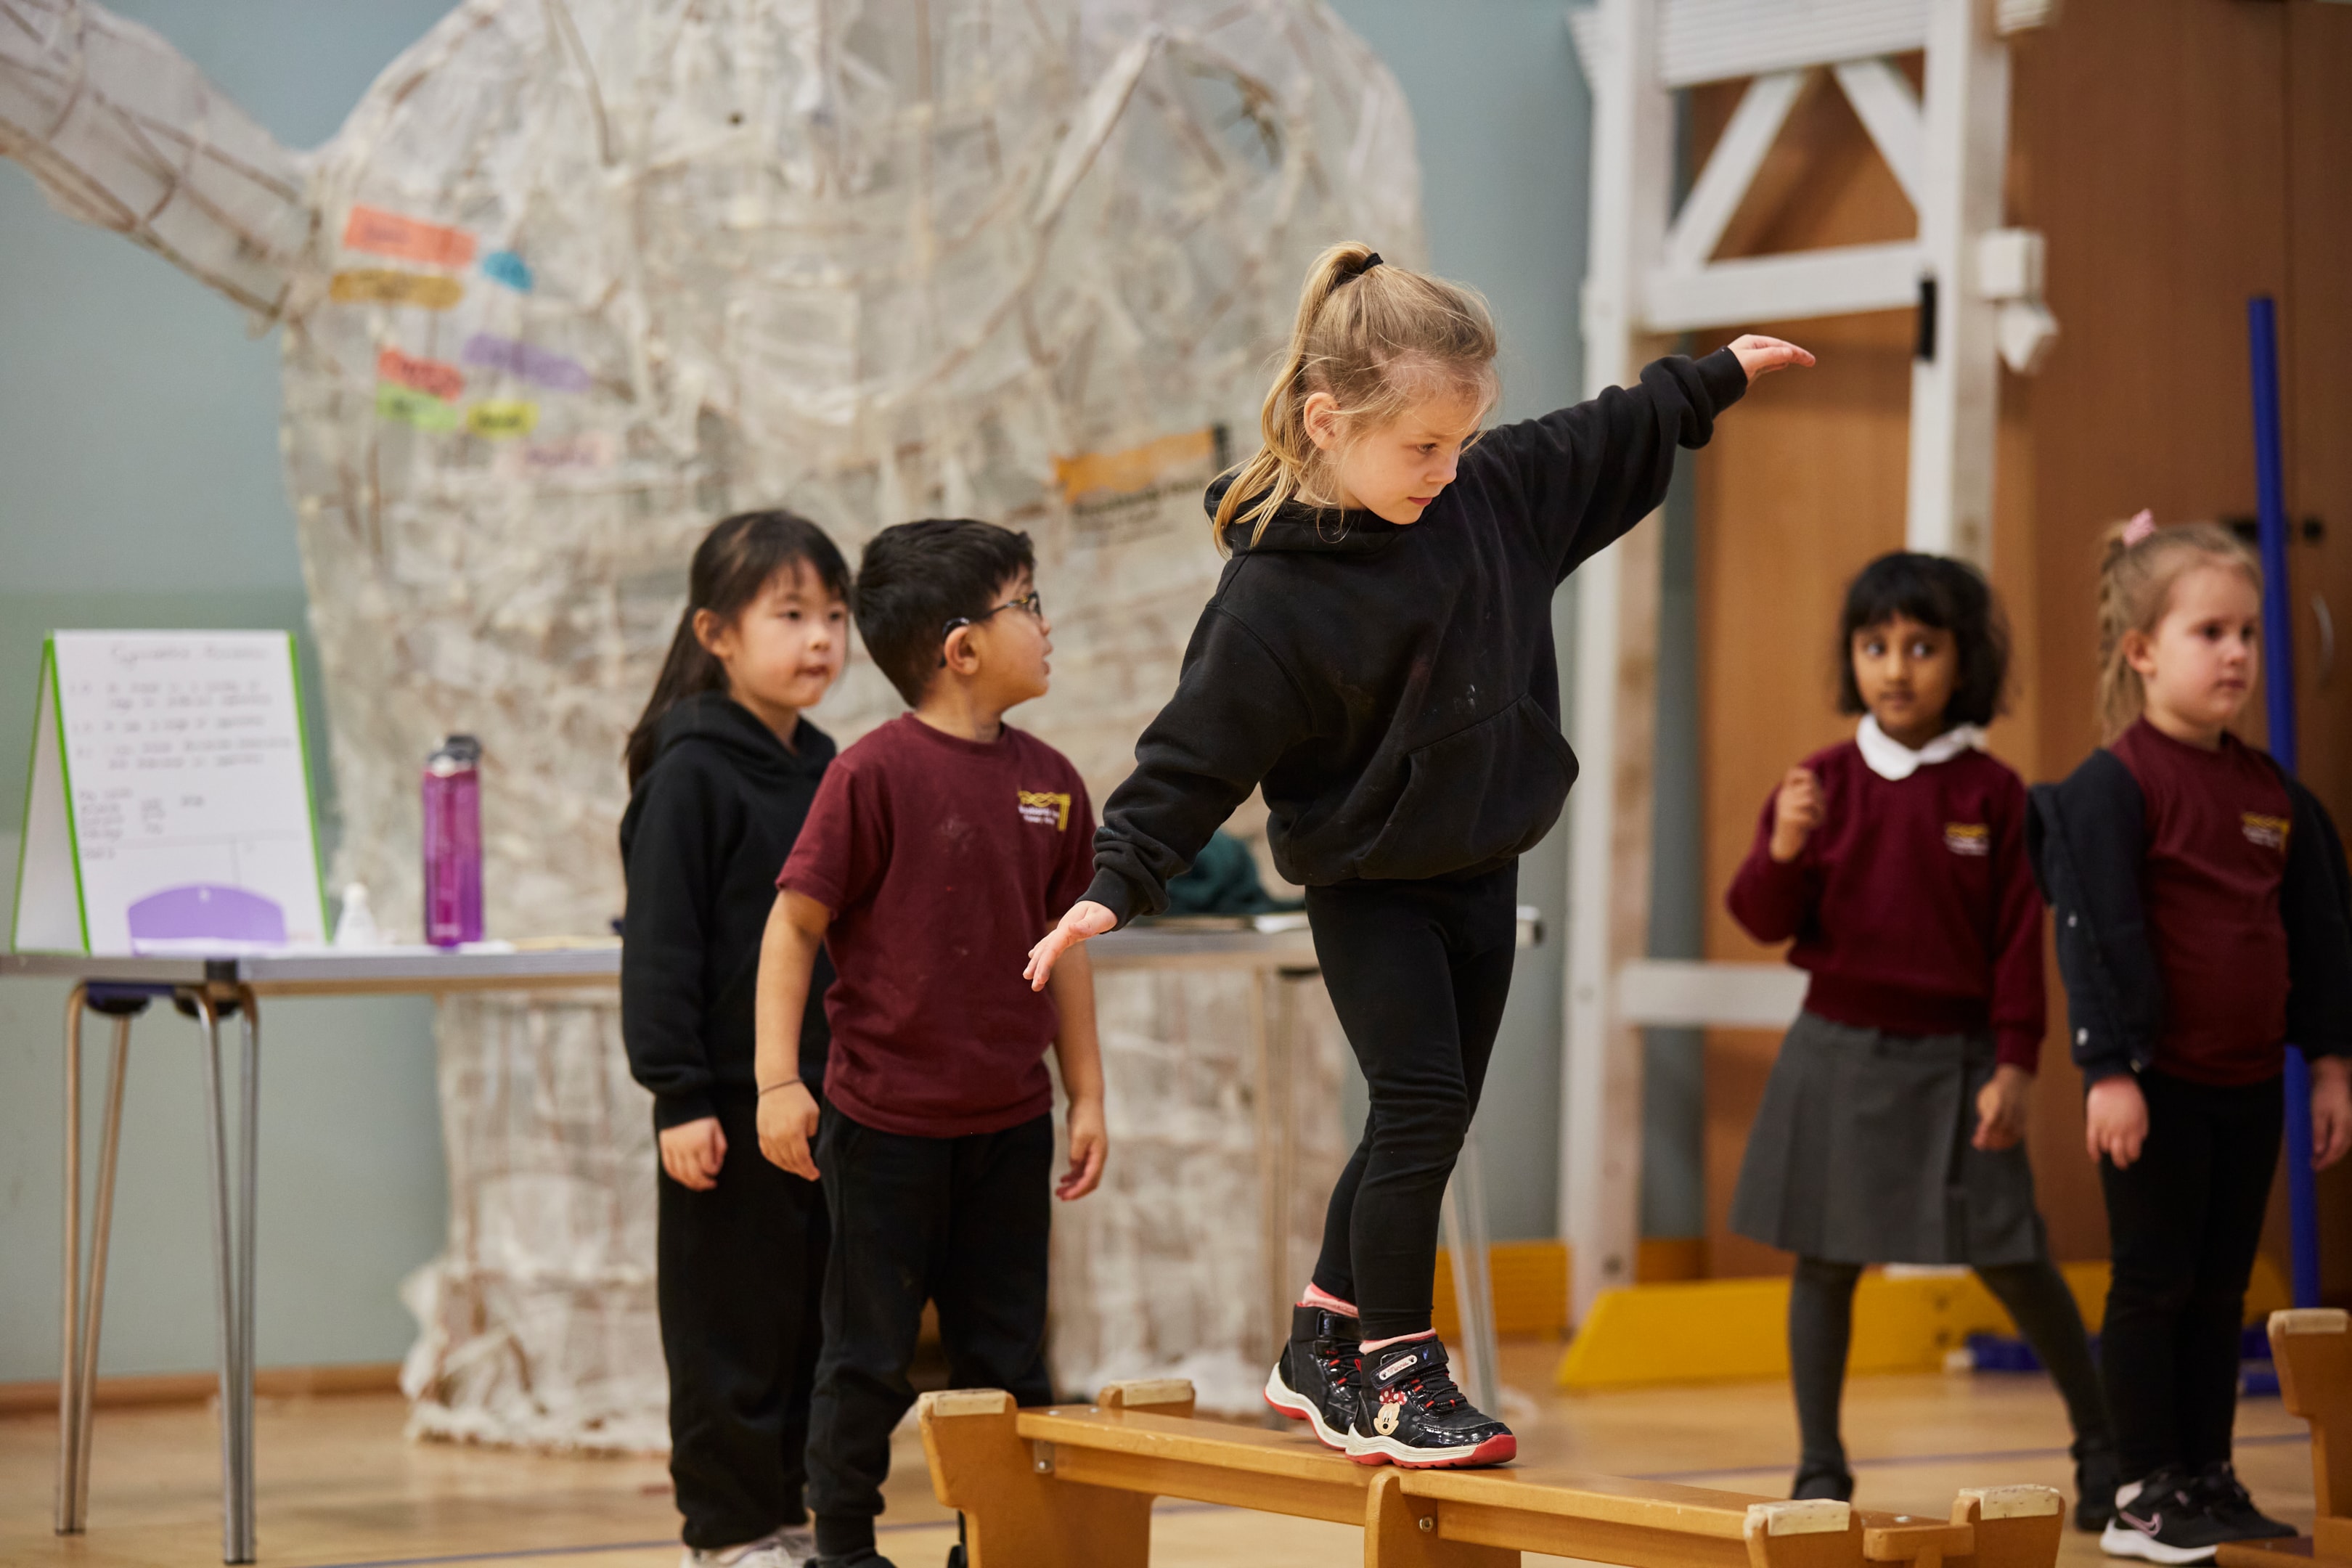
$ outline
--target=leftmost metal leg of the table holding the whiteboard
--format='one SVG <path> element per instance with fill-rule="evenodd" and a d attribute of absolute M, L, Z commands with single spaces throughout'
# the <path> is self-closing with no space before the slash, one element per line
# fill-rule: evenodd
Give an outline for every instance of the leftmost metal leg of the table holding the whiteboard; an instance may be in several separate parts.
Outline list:
<path fill-rule="evenodd" d="M 99 1140 L 99 1199 L 89 1225 L 89 1284 L 82 1291 L 82 1011 L 99 1006 L 115 1020 L 115 1051 L 106 1067 L 106 1124 Z M 94 1004 L 75 985 L 66 999 L 66 1279 L 59 1333 L 64 1366 L 56 1380 L 56 1533 L 89 1528 L 92 1396 L 99 1380 L 99 1326 L 106 1319 L 106 1251 L 115 1218 L 115 1166 L 122 1152 L 122 1084 L 129 1072 L 132 1018 L 146 999 Z"/>

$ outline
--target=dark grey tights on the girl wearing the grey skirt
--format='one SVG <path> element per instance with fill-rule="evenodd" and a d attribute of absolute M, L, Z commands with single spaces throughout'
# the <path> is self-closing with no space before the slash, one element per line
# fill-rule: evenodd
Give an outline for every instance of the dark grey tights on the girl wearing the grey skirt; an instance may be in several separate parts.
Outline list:
<path fill-rule="evenodd" d="M 1837 1406 L 1846 1392 L 1846 1347 L 1853 1340 L 1853 1284 L 1858 1262 L 1799 1258 L 1788 1288 L 1788 1368 L 1797 1385 L 1797 1432 L 1804 1439 L 1799 1476 L 1842 1476 L 1846 1443 L 1837 1427 Z M 2098 1371 L 2091 1366 L 2091 1342 L 2082 1328 L 2074 1293 L 2065 1288 L 2046 1255 L 2032 1262 L 2006 1262 L 1976 1272 L 1985 1288 L 2009 1307 L 2025 1342 L 2051 1368 L 2051 1382 L 2065 1399 L 2074 1425 L 2074 1458 L 2105 1448 L 2107 1403 L 2100 1396 Z M 2112 1312 L 2112 1307 L 2110 1307 Z"/>

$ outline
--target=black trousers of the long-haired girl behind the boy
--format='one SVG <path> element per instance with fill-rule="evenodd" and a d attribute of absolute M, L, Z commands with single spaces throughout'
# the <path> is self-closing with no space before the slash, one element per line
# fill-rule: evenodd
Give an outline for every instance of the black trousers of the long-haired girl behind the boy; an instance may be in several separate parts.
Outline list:
<path fill-rule="evenodd" d="M 715 1091 L 717 1187 L 659 1175 L 661 1352 L 670 1363 L 670 1481 L 684 1540 L 741 1547 L 802 1523 L 816 1380 L 826 1199 L 760 1154 L 757 1103 Z"/>

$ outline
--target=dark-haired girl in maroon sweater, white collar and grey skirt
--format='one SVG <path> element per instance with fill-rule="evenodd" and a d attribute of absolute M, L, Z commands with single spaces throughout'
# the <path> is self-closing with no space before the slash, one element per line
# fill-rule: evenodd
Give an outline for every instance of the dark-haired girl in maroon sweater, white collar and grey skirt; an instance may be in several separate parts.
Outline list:
<path fill-rule="evenodd" d="M 2082 1314 L 2042 1237 L 2025 1100 L 2042 1053 L 2042 896 L 2025 785 L 1980 748 L 2009 637 L 1985 581 L 1882 555 L 1846 590 L 1844 745 L 1764 802 L 1731 912 L 1811 971 L 1748 1135 L 1731 1229 L 1797 1253 L 1797 1497 L 1851 1497 L 1837 1406 L 1870 1262 L 1964 1262 L 2051 1368 L 2074 1422 L 2077 1523 L 2114 1497 Z"/>

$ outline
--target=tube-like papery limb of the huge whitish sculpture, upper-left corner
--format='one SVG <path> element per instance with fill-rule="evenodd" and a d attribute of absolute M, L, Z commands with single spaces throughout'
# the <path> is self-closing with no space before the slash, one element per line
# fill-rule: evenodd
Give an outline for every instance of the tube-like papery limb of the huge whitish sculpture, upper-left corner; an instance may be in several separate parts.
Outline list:
<path fill-rule="evenodd" d="M 310 207 L 303 160 L 162 35 L 85 0 L 0 0 L 0 155 L 111 228 L 278 320 Z"/>

